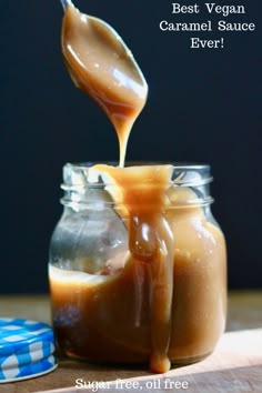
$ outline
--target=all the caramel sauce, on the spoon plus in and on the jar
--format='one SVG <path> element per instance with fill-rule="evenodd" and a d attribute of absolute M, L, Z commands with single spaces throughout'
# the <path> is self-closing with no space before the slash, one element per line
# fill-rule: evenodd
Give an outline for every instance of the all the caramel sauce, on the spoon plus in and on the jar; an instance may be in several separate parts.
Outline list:
<path fill-rule="evenodd" d="M 74 83 L 102 107 L 117 130 L 120 167 L 81 171 L 88 180 L 104 181 L 128 244 L 92 272 L 90 255 L 81 269 L 73 260 L 51 259 L 58 343 L 74 357 L 149 362 L 152 372 L 161 373 L 170 361 L 200 360 L 213 351 L 224 329 L 223 234 L 194 191 L 174 184 L 172 165 L 122 168 L 148 87 L 112 28 L 70 6 L 62 50 Z M 74 203 L 67 209 L 77 214 L 80 208 Z"/>

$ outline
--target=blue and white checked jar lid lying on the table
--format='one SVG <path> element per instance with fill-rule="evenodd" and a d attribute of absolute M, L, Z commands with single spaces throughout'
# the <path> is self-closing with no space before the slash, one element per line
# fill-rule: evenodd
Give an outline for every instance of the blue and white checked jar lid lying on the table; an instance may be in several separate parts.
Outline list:
<path fill-rule="evenodd" d="M 56 367 L 51 326 L 29 320 L 0 319 L 0 383 L 39 376 Z"/>

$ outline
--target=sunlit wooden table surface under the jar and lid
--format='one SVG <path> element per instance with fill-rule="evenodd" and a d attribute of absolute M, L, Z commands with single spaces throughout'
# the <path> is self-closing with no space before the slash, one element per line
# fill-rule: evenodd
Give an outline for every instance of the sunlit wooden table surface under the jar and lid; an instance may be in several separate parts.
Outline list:
<path fill-rule="evenodd" d="M 49 298 L 0 296 L 0 314 L 50 323 Z M 75 389 L 77 379 L 85 381 L 90 389 Z M 89 385 L 90 382 L 93 384 Z M 229 294 L 226 333 L 215 352 L 200 363 L 152 375 L 145 369 L 110 369 L 61 359 L 59 367 L 50 374 L 0 384 L 1 393 L 57 390 L 64 393 L 262 392 L 262 292 Z"/>

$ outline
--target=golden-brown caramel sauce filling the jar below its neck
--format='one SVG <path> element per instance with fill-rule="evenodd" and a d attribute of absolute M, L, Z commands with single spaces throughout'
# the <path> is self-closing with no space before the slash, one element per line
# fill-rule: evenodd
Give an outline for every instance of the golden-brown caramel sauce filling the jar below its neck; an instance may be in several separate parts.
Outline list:
<path fill-rule="evenodd" d="M 184 206 L 191 192 L 178 191 L 168 190 L 160 215 L 142 213 L 149 230 L 155 228 L 151 220 L 157 216 L 164 233 L 147 236 L 148 225 L 144 233 L 140 225 L 139 243 L 131 238 L 130 251 L 120 255 L 124 263 L 119 255 L 110 261 L 114 274 L 107 269 L 95 275 L 50 266 L 54 329 L 66 354 L 99 363 L 149 362 L 151 371 L 164 372 L 169 359 L 189 364 L 213 351 L 226 313 L 224 238 L 200 206 Z M 122 200 L 120 193 L 114 198 Z M 137 216 L 132 208 L 131 215 Z M 124 216 L 129 222 L 125 211 Z M 160 254 L 164 250 L 163 244 L 159 248 L 160 236 L 168 239 L 170 259 Z"/>

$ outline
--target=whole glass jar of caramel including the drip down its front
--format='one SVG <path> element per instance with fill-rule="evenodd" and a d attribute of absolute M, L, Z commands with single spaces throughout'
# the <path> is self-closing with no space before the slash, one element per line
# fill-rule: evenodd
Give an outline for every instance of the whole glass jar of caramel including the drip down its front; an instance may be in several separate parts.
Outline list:
<path fill-rule="evenodd" d="M 83 167 L 81 187 L 72 175 L 50 255 L 54 331 L 66 354 L 148 362 L 161 373 L 170 362 L 189 364 L 213 351 L 226 313 L 224 236 L 205 179 L 175 185 L 175 170 Z M 85 184 L 93 173 L 104 184 Z"/>

